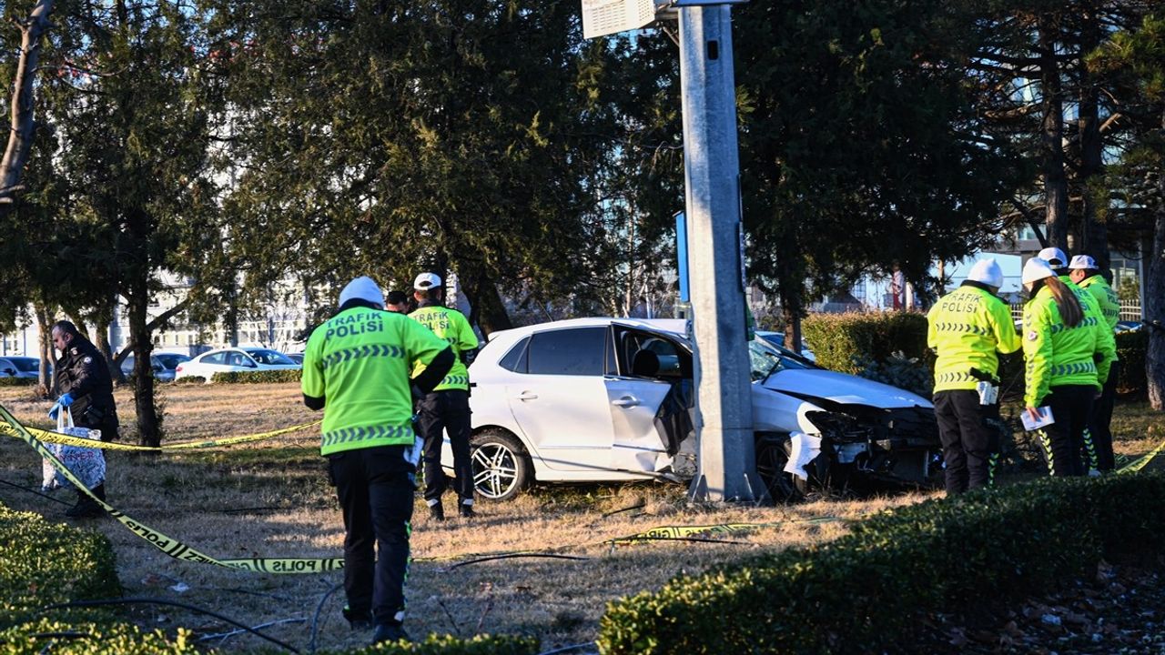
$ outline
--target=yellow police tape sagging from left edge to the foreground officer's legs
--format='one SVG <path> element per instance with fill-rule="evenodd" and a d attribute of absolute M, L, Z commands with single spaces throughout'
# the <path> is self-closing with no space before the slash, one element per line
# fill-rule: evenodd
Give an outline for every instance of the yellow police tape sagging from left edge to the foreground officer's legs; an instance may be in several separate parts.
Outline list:
<path fill-rule="evenodd" d="M 183 562 L 198 562 L 202 564 L 213 564 L 216 566 L 224 566 L 226 569 L 236 569 L 240 571 L 257 571 L 260 573 L 324 573 L 327 571 L 339 571 L 344 569 L 343 557 L 331 557 L 331 558 L 302 558 L 302 557 L 254 557 L 248 559 L 218 559 L 211 557 L 204 552 L 182 543 L 181 541 L 167 536 L 154 528 L 136 521 L 130 516 L 126 516 L 121 512 L 118 512 L 112 506 L 107 505 L 104 500 L 93 495 L 85 485 L 78 480 L 70 471 L 61 463 L 56 456 L 52 455 L 48 448 L 33 436 L 31 432 L 24 425 L 22 425 L 16 417 L 13 416 L 7 409 L 0 406 L 0 418 L 8 423 L 13 430 L 27 443 L 33 446 L 33 450 L 38 452 L 41 457 L 49 460 L 52 466 L 61 472 L 75 487 L 89 495 L 93 501 L 101 506 L 110 516 L 113 516 L 122 526 L 129 528 L 132 533 L 142 537 L 149 542 L 154 548 L 161 550 L 162 552 L 174 557 L 175 559 L 181 559 Z M 87 439 L 82 439 L 86 441 Z M 87 442 L 86 445 L 93 442 Z"/>

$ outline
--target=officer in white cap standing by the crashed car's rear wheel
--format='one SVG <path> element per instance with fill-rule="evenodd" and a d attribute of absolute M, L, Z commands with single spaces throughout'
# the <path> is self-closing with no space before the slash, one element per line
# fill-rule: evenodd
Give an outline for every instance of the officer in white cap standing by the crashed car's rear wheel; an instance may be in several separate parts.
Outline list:
<path fill-rule="evenodd" d="M 469 372 L 468 358 L 478 347 L 478 337 L 469 328 L 465 315 L 442 305 L 442 280 L 436 273 L 422 273 L 412 283 L 412 296 L 417 310 L 410 314 L 415 321 L 432 330 L 444 339 L 457 361 L 445 379 L 431 394 L 421 399 L 417 406 L 417 425 L 425 441 L 425 502 L 429 513 L 437 521 L 445 520 L 440 496 L 449 488 L 449 478 L 440 466 L 442 442 L 449 432 L 453 451 L 453 477 L 456 478 L 457 510 L 466 519 L 473 513 L 473 465 L 469 460 Z"/>

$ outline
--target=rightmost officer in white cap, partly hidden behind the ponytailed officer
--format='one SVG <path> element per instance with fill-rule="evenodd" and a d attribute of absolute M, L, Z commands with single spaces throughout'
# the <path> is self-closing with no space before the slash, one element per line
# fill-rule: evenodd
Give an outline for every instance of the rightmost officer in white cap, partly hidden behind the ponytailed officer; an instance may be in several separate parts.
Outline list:
<path fill-rule="evenodd" d="M 1121 321 L 1121 300 L 1113 287 L 1100 274 L 1096 260 L 1088 255 L 1076 255 L 1068 263 L 1068 276 L 1078 287 L 1092 294 L 1100 305 L 1101 315 L 1109 330 L 1116 328 Z M 1116 402 L 1116 380 L 1121 375 L 1120 359 L 1113 359 L 1113 365 L 1108 369 L 1108 381 L 1104 382 L 1104 390 L 1100 399 L 1093 404 L 1093 420 L 1088 424 L 1088 434 L 1085 435 L 1085 443 L 1092 443 L 1094 449 L 1088 451 L 1090 469 L 1096 471 L 1111 471 L 1116 465 L 1113 456 L 1113 406 Z"/>

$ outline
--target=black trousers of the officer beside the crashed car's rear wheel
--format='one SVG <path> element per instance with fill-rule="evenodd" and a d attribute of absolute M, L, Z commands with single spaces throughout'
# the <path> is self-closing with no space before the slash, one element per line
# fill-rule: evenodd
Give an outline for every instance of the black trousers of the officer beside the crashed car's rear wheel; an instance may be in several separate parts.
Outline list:
<path fill-rule="evenodd" d="M 421 399 L 417 427 L 425 441 L 425 501 L 440 502 L 449 488 L 449 477 L 440 467 L 440 446 L 444 432 L 449 432 L 453 448 L 453 485 L 458 502 L 473 503 L 473 466 L 469 462 L 469 392 L 447 389 L 433 392 Z"/>

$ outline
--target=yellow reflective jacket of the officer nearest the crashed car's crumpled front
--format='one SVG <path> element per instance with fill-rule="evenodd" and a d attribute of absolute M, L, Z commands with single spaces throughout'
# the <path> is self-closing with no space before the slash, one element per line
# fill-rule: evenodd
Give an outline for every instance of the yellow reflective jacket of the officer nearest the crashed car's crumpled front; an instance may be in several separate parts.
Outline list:
<path fill-rule="evenodd" d="M 926 345 L 935 353 L 934 390 L 974 389 L 979 369 L 998 379 L 1000 359 L 1019 350 L 1011 310 L 997 296 L 974 283 L 939 298 L 926 315 Z"/>

